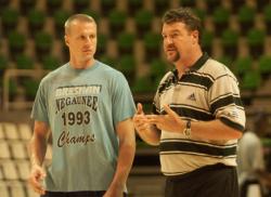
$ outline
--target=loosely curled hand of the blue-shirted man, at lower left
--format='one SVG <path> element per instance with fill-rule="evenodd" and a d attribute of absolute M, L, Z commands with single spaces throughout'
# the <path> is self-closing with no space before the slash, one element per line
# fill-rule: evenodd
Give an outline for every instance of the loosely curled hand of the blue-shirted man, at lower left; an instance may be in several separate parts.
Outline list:
<path fill-rule="evenodd" d="M 43 169 L 40 166 L 35 165 L 31 169 L 30 176 L 28 179 L 28 183 L 30 184 L 33 189 L 40 195 L 46 194 L 46 189 L 41 184 L 41 181 L 44 178 L 46 178 L 46 172 L 43 171 Z"/>

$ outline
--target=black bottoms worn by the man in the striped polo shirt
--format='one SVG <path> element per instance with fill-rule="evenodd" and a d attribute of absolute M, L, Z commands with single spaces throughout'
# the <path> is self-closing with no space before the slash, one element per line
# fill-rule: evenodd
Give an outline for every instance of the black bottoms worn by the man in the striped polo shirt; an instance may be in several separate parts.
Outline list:
<path fill-rule="evenodd" d="M 214 165 L 168 176 L 165 197 L 238 197 L 236 168 Z"/>

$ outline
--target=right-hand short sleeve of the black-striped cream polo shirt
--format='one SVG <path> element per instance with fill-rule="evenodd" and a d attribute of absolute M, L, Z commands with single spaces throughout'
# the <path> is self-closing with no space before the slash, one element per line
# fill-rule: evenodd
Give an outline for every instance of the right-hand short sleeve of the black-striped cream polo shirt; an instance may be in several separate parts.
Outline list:
<path fill-rule="evenodd" d="M 238 82 L 230 71 L 218 76 L 209 89 L 210 111 L 227 126 L 240 131 L 245 129 L 245 109 Z"/>

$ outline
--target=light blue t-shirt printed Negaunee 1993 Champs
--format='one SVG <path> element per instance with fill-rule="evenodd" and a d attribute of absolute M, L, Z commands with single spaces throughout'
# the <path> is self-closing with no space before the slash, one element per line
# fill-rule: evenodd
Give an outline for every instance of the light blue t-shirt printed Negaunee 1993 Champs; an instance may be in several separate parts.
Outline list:
<path fill-rule="evenodd" d="M 65 64 L 46 76 L 31 111 L 52 131 L 46 189 L 106 191 L 118 157 L 115 128 L 134 113 L 124 75 L 99 61 L 87 69 Z"/>

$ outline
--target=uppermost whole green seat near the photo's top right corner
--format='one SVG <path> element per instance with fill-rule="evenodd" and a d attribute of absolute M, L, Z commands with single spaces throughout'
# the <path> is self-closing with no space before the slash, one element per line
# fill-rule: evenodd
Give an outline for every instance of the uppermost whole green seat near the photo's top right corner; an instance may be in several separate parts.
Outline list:
<path fill-rule="evenodd" d="M 243 36 L 246 35 L 248 29 L 254 27 L 254 21 L 256 16 L 256 11 L 249 5 L 242 5 L 237 13 L 237 21 L 240 24 L 240 30 Z"/>

